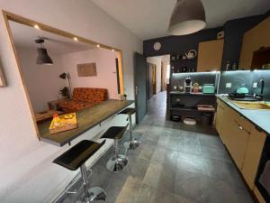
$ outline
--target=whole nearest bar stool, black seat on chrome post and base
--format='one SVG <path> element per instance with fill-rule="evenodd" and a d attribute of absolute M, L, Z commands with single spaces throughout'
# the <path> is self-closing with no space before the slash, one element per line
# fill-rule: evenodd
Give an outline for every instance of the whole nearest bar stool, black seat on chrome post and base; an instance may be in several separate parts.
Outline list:
<path fill-rule="evenodd" d="M 86 203 L 90 202 L 106 202 L 106 193 L 102 188 L 94 187 L 90 189 L 89 180 L 87 178 L 87 169 L 85 166 L 85 161 L 87 161 L 95 152 L 97 152 L 105 143 L 95 143 L 89 140 L 83 140 L 76 143 L 72 148 L 64 152 L 53 162 L 60 166 L 63 166 L 71 171 L 76 171 L 80 168 L 81 176 L 83 179 L 84 187 L 84 201 Z M 76 193 L 76 192 L 74 192 Z"/>

